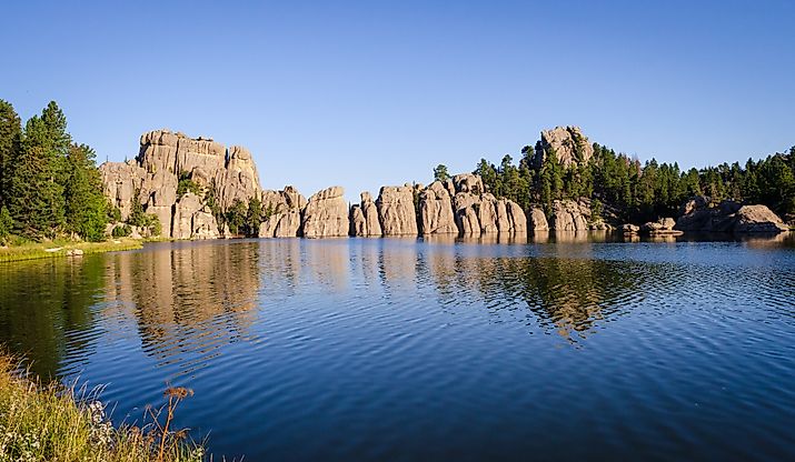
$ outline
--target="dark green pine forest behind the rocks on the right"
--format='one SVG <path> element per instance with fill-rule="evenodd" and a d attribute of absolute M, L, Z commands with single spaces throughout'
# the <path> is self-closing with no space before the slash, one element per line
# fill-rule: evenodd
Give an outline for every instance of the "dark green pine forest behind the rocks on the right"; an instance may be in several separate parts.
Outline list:
<path fill-rule="evenodd" d="M 499 165 L 480 159 L 473 173 L 479 174 L 495 195 L 525 210 L 540 205 L 547 215 L 555 200 L 588 198 L 592 208 L 598 209 L 597 215 L 609 204 L 620 219 L 644 222 L 674 217 L 687 199 L 704 194 L 715 201 L 761 203 L 785 218 L 795 217 L 795 147 L 758 161 L 748 159 L 744 165 L 722 163 L 700 170 L 682 170 L 676 162 L 655 159 L 642 164 L 605 145 L 594 143 L 593 148 L 590 159 L 565 167 L 554 150 L 540 165 L 535 164 L 535 149 L 528 145 L 518 164 L 510 154 Z M 447 167 L 437 165 L 434 178 L 449 178 Z"/>

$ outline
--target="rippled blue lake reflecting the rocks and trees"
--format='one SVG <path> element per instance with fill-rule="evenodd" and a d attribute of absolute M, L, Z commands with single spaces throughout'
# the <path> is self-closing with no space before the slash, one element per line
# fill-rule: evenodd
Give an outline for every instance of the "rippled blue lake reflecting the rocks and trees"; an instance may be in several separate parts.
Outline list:
<path fill-rule="evenodd" d="M 0 264 L 0 340 L 247 461 L 792 460 L 792 234 L 151 243 Z"/>

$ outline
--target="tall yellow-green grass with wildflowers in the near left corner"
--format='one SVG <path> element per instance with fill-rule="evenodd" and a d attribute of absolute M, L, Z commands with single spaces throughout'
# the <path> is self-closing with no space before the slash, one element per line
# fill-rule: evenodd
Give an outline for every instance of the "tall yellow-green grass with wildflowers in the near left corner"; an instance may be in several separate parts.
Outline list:
<path fill-rule="evenodd" d="M 143 428 L 113 426 L 101 402 L 58 383 L 42 385 L 20 374 L 0 353 L 0 461 L 199 462 L 205 451 L 169 428 L 173 410 L 190 394 L 167 389 L 168 403 L 149 411 Z"/>

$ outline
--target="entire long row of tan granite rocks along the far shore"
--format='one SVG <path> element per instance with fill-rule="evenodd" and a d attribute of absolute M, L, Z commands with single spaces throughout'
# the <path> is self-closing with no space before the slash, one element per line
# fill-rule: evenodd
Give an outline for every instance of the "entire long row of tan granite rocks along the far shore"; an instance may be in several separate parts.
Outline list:
<path fill-rule="evenodd" d="M 566 153 L 565 135 L 570 135 L 570 130 L 563 135 L 555 133 L 545 132 L 545 149 Z M 562 159 L 575 162 L 574 154 Z M 225 212 L 251 203 L 258 208 L 254 220 L 257 229 L 249 235 L 259 238 L 524 234 L 550 230 L 676 235 L 686 231 L 788 230 L 765 205 L 713 203 L 706 197 L 683 204 L 677 220 L 662 218 L 642 225 L 620 223 L 609 214 L 597 215 L 589 199 L 555 200 L 546 212 L 539 205 L 523 210 L 516 202 L 493 194 L 474 173 L 457 174 L 427 187 L 386 185 L 375 200 L 365 191 L 360 202 L 352 205 L 346 202 L 345 190 L 339 185 L 306 199 L 289 185 L 280 191 L 262 189 L 247 149 L 226 148 L 212 139 L 192 139 L 169 130 L 145 133 L 136 159 L 106 162 L 99 170 L 105 193 L 119 214 L 109 233 L 136 210 L 142 210 L 157 217 L 162 238 L 173 240 L 235 237 L 239 231 L 230 229 Z M 152 233 L 150 229 L 133 231 L 136 235 Z"/>

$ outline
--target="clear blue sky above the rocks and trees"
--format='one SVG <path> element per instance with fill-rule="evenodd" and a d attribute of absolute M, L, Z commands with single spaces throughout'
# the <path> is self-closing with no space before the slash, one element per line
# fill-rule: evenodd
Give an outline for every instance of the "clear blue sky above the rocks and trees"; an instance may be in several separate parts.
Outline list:
<path fill-rule="evenodd" d="M 559 124 L 682 167 L 795 144 L 788 0 L 79 3 L 3 4 L 0 98 L 54 99 L 100 160 L 168 127 L 355 199 Z"/>

